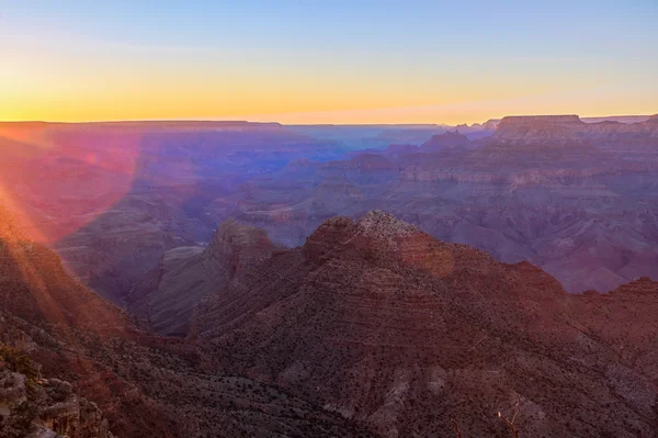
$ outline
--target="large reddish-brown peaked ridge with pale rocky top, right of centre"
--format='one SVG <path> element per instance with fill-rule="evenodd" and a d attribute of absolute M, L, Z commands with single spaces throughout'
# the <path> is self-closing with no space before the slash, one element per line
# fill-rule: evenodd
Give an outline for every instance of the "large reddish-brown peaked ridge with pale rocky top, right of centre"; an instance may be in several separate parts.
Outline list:
<path fill-rule="evenodd" d="M 495 415 L 520 397 L 527 436 L 633 437 L 658 424 L 656 311 L 649 280 L 569 295 L 530 263 L 371 212 L 236 276 L 193 333 L 231 372 L 381 436 L 447 436 L 452 418 L 465 436 L 503 436 Z"/>

